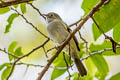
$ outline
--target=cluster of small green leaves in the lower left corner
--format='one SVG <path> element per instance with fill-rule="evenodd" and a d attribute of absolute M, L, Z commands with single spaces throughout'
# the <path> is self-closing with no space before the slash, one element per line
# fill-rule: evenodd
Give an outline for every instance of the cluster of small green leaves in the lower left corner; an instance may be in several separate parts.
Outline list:
<path fill-rule="evenodd" d="M 16 55 L 16 56 L 22 56 L 23 55 L 22 47 L 16 48 L 17 44 L 18 44 L 18 42 L 13 41 L 8 47 L 8 52 L 10 52 L 11 54 Z M 9 56 L 10 61 L 12 61 L 13 59 L 16 59 L 15 57 L 13 57 L 11 55 L 8 55 L 8 56 Z M 10 70 L 11 70 L 11 64 L 3 63 L 2 65 L 0 65 L 0 71 L 1 70 L 3 70 L 2 75 L 1 75 L 1 80 L 6 80 L 6 78 L 8 77 L 8 75 L 10 73 Z"/>

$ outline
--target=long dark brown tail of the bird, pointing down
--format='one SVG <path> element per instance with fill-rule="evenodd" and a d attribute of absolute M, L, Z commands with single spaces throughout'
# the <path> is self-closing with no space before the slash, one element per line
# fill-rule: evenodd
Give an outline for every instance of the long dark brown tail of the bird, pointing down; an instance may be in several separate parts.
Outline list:
<path fill-rule="evenodd" d="M 79 74 L 81 76 L 85 76 L 87 75 L 87 71 L 85 69 L 85 66 L 83 65 L 83 63 L 81 62 L 81 60 L 79 58 L 74 58 L 74 62 L 75 62 L 75 65 L 79 71 Z"/>

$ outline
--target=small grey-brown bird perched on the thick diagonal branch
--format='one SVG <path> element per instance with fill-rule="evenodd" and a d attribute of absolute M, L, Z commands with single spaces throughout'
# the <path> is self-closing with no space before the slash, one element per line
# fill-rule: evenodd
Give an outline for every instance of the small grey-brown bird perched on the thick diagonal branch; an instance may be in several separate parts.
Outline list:
<path fill-rule="evenodd" d="M 67 26 L 66 23 L 64 23 L 62 18 L 57 13 L 50 12 L 43 15 L 46 17 L 47 33 L 49 38 L 55 43 L 56 46 L 60 46 L 70 34 L 71 29 Z M 78 47 L 78 41 L 75 36 L 69 41 L 68 44 L 63 49 L 63 52 L 67 54 L 69 53 L 68 55 L 71 56 L 73 62 L 75 63 L 79 75 L 87 75 L 87 70 L 78 56 L 80 49 Z"/>

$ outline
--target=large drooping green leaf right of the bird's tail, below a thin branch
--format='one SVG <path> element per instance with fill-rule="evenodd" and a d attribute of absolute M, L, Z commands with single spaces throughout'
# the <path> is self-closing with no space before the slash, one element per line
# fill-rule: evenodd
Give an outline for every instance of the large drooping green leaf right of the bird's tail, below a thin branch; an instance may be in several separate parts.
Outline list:
<path fill-rule="evenodd" d="M 104 57 L 102 55 L 94 55 L 91 56 L 91 59 L 95 66 L 97 67 L 97 70 L 100 72 L 100 76 L 103 78 L 103 76 L 106 76 L 109 72 L 109 68 L 107 65 L 107 62 L 105 61 Z"/>

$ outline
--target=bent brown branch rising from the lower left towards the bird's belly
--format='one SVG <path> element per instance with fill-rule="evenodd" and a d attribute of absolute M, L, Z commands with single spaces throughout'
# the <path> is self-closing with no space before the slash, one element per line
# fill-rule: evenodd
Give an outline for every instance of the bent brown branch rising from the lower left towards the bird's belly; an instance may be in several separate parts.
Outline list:
<path fill-rule="evenodd" d="M 9 77 L 12 75 L 13 70 L 14 70 L 14 67 L 15 67 L 15 65 L 16 65 L 16 63 L 17 63 L 18 61 L 20 61 L 21 59 L 29 56 L 30 54 L 32 54 L 33 52 L 35 52 L 35 51 L 38 50 L 39 48 L 43 47 L 48 41 L 49 41 L 49 39 L 47 39 L 46 41 L 44 41 L 40 46 L 32 49 L 32 50 L 31 50 L 30 52 L 28 52 L 27 54 L 25 54 L 25 55 L 19 57 L 18 59 L 16 59 L 16 60 L 14 61 L 14 63 L 12 64 L 12 68 L 11 68 L 11 70 L 10 70 L 10 73 L 9 73 L 8 77 L 7 77 L 7 80 L 8 80 Z"/>

